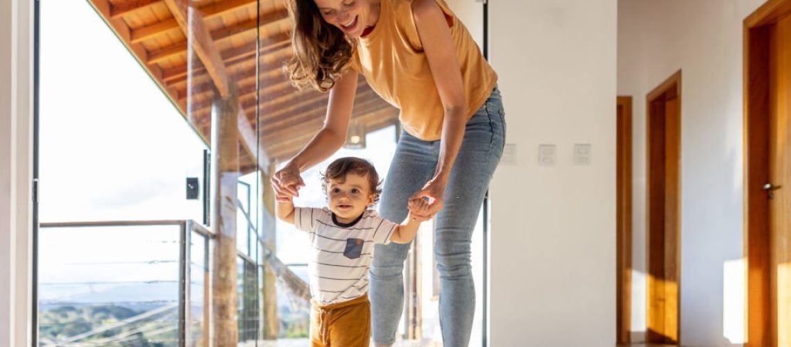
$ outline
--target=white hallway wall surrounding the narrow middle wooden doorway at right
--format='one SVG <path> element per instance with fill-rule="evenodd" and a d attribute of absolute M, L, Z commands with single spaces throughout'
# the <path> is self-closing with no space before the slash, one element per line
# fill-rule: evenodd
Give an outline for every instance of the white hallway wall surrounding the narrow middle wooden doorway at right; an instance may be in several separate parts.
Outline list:
<path fill-rule="evenodd" d="M 618 93 L 634 96 L 633 330 L 645 331 L 645 95 L 681 69 L 681 339 L 741 340 L 744 297 L 724 283 L 744 273 L 724 272 L 743 255 L 742 21 L 761 3 L 619 0 Z"/>

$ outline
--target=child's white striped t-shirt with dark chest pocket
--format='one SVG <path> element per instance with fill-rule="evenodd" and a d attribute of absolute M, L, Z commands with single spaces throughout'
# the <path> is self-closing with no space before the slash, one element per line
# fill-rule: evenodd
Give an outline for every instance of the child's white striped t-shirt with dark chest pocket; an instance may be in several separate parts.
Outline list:
<path fill-rule="evenodd" d="M 373 245 L 390 243 L 398 224 L 365 213 L 349 224 L 339 223 L 330 209 L 294 209 L 294 226 L 310 232 L 310 292 L 319 304 L 337 304 L 368 292 Z"/>

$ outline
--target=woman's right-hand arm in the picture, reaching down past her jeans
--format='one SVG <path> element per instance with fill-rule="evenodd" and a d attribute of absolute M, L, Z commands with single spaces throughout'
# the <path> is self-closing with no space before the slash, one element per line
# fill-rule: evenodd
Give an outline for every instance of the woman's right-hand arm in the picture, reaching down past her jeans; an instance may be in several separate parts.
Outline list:
<path fill-rule="evenodd" d="M 467 102 L 464 97 L 464 81 L 456 57 L 448 21 L 436 0 L 414 0 L 412 2 L 414 25 L 423 43 L 423 51 L 429 61 L 431 75 L 437 85 L 445 118 L 442 123 L 440 157 L 437 170 L 426 187 L 412 198 L 430 198 L 430 215 L 442 209 L 445 186 L 448 184 L 453 163 L 461 148 L 466 126 Z M 430 216 L 422 216 L 430 217 Z"/>

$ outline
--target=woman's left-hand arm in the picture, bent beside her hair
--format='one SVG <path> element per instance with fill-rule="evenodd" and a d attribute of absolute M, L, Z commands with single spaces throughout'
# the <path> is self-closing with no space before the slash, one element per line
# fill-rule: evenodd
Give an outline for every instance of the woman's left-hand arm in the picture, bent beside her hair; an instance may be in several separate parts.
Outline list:
<path fill-rule="evenodd" d="M 272 176 L 272 186 L 278 194 L 299 196 L 297 190 L 305 186 L 300 173 L 324 161 L 343 146 L 357 92 L 357 79 L 358 72 L 350 69 L 335 82 L 330 90 L 324 127 L 297 156 Z"/>

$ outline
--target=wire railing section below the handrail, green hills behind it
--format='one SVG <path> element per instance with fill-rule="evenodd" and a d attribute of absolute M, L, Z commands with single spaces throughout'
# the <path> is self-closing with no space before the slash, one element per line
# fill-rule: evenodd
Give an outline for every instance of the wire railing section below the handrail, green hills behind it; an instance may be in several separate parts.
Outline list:
<path fill-rule="evenodd" d="M 41 345 L 176 345 L 179 240 L 178 225 L 40 228 Z"/>

